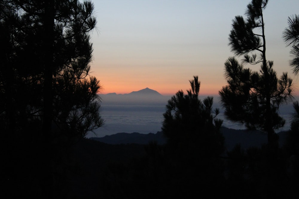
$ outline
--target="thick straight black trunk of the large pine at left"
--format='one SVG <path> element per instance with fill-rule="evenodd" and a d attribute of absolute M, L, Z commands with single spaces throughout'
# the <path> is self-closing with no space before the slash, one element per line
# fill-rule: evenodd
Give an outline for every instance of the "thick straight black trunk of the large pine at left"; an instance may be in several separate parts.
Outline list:
<path fill-rule="evenodd" d="M 43 90 L 43 126 L 41 160 L 42 198 L 53 198 L 54 184 L 52 173 L 52 76 L 53 76 L 53 44 L 54 44 L 54 0 L 45 1 L 44 13 L 44 90 Z"/>

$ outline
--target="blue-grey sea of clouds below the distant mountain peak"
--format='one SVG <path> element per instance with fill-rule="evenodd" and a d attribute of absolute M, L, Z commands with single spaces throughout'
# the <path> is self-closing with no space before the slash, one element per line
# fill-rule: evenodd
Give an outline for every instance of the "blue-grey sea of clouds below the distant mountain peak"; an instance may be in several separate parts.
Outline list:
<path fill-rule="evenodd" d="M 144 100 L 142 102 L 119 101 L 119 98 L 116 101 L 103 96 L 101 115 L 105 120 L 105 124 L 103 127 L 95 129 L 94 132 L 89 132 L 86 137 L 104 137 L 105 135 L 113 135 L 119 132 L 147 134 L 161 131 L 164 119 L 163 113 L 166 111 L 167 100 L 170 97 L 163 96 L 163 99 L 160 99 L 158 102 L 151 99 L 151 101 L 156 103 L 147 103 Z M 245 129 L 243 125 L 225 119 L 218 96 L 214 96 L 213 107 L 220 109 L 220 114 L 217 118 L 223 120 L 223 126 L 232 129 Z M 286 124 L 277 132 L 288 130 L 291 122 L 290 115 L 293 112 L 292 103 L 282 105 L 279 112 L 286 120 Z"/>

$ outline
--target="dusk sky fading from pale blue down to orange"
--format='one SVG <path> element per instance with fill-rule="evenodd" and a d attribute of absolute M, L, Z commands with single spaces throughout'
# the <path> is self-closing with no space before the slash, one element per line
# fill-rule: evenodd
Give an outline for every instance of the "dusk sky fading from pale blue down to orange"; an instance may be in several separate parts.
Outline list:
<path fill-rule="evenodd" d="M 200 94 L 215 95 L 225 86 L 224 63 L 233 56 L 228 35 L 235 16 L 250 0 L 94 0 L 97 29 L 91 35 L 91 75 L 102 94 L 146 87 L 162 95 L 189 89 L 194 75 Z M 298 77 L 289 67 L 282 39 L 287 18 L 299 14 L 298 0 L 269 0 L 263 12 L 266 57 L 280 77 L 288 72 L 299 95 Z M 242 57 L 239 57 L 240 59 Z M 246 64 L 252 70 L 260 66 Z"/>

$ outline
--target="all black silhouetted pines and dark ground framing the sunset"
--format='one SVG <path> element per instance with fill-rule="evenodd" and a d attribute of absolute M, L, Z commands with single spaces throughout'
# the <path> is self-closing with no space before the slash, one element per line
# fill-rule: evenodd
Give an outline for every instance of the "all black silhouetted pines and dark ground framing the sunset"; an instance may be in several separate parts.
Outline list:
<path fill-rule="evenodd" d="M 298 198 L 299 104 L 284 146 L 281 104 L 292 79 L 266 59 L 263 10 L 252 0 L 236 16 L 219 91 L 227 119 L 268 135 L 260 147 L 225 149 L 213 98 L 199 100 L 200 81 L 166 105 L 166 144 L 109 145 L 85 139 L 103 125 L 100 82 L 90 76 L 93 4 L 77 0 L 0 1 L 0 132 L 3 198 Z M 298 74 L 299 17 L 283 39 Z M 261 64 L 259 71 L 243 64 Z"/>

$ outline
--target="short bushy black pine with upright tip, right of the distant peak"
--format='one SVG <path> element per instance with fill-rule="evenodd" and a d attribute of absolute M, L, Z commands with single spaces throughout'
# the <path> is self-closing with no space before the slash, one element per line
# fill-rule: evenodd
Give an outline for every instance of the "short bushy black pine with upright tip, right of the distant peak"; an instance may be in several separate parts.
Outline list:
<path fill-rule="evenodd" d="M 162 130 L 167 138 L 164 175 L 172 191 L 164 189 L 173 197 L 209 192 L 222 182 L 224 138 L 219 131 L 222 120 L 215 118 L 219 109 L 212 109 L 213 97 L 199 99 L 198 76 L 190 80 L 190 86 L 187 94 L 181 90 L 168 101 L 163 114 Z"/>

